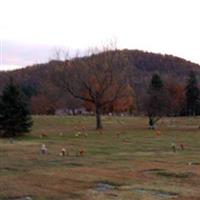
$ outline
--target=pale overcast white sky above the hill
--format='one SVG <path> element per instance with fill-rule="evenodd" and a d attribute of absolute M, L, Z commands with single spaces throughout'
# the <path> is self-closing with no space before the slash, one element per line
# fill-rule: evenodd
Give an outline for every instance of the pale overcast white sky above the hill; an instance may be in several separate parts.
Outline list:
<path fill-rule="evenodd" d="M 0 0 L 0 38 L 0 70 L 109 40 L 200 64 L 200 1 Z"/>

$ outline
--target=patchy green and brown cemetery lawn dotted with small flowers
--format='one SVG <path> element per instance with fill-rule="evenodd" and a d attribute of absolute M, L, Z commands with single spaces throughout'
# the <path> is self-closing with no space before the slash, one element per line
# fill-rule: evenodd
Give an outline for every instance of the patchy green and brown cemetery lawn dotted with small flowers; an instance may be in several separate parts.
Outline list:
<path fill-rule="evenodd" d="M 162 119 L 160 136 L 147 118 L 103 124 L 96 131 L 93 117 L 35 116 L 31 133 L 0 139 L 0 199 L 200 199 L 200 118 Z"/>

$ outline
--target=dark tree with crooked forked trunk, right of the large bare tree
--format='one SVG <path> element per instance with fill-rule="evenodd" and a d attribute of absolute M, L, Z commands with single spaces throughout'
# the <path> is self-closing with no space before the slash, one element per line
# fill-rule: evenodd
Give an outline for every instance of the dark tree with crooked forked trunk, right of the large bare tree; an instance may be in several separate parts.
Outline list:
<path fill-rule="evenodd" d="M 164 87 L 163 81 L 158 74 L 152 76 L 146 110 L 149 117 L 149 127 L 154 128 L 156 122 L 163 116 L 167 115 L 169 107 L 169 95 Z"/>

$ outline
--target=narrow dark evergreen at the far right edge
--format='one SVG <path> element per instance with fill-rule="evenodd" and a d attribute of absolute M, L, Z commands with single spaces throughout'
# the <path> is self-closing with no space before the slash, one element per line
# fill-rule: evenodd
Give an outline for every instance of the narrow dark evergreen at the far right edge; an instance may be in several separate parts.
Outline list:
<path fill-rule="evenodd" d="M 185 95 L 187 114 L 198 115 L 200 92 L 194 72 L 190 72 L 189 74 Z"/>

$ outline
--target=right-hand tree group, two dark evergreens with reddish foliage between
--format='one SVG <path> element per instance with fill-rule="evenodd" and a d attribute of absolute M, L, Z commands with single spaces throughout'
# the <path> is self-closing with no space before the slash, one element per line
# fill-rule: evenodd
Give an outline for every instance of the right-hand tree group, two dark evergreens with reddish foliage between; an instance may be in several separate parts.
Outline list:
<path fill-rule="evenodd" d="M 193 71 L 185 87 L 165 85 L 159 74 L 152 76 L 146 97 L 149 127 L 154 128 L 162 116 L 197 116 L 200 114 L 200 90 Z"/>

